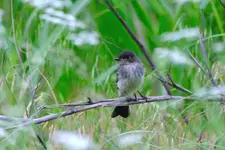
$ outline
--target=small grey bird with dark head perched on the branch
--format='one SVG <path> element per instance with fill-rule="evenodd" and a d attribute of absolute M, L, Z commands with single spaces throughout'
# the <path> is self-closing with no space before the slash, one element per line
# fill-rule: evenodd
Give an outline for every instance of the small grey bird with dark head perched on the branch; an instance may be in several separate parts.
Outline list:
<path fill-rule="evenodd" d="M 131 51 L 123 51 L 118 61 L 117 89 L 119 97 L 131 97 L 144 80 L 145 69 L 141 60 Z M 123 118 L 130 116 L 129 106 L 117 106 L 111 117 L 120 115 Z"/>

